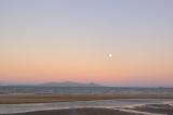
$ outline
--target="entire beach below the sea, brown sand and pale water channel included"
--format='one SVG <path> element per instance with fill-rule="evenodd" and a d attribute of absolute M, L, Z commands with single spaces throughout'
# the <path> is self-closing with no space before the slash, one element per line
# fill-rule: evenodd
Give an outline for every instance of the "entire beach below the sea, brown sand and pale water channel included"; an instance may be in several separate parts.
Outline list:
<path fill-rule="evenodd" d="M 160 94 L 1 94 L 0 115 L 172 115 Z"/>

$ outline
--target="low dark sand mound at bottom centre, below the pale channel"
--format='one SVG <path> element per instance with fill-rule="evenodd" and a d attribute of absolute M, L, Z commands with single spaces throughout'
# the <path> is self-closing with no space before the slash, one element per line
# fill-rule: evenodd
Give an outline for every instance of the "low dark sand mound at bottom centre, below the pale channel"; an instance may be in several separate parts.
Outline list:
<path fill-rule="evenodd" d="M 121 112 L 119 110 L 109 110 L 109 108 L 69 108 L 69 110 L 17 113 L 10 115 L 134 115 L 134 113 Z"/>

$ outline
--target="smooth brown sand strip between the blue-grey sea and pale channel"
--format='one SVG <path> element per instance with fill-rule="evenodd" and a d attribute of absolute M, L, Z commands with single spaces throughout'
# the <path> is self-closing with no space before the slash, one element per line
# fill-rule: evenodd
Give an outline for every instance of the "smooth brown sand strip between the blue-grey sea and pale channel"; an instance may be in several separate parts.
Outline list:
<path fill-rule="evenodd" d="M 17 94 L 0 95 L 0 104 L 24 104 L 24 103 L 51 103 L 68 101 L 94 101 L 112 99 L 173 99 L 171 95 L 151 95 L 151 94 Z"/>

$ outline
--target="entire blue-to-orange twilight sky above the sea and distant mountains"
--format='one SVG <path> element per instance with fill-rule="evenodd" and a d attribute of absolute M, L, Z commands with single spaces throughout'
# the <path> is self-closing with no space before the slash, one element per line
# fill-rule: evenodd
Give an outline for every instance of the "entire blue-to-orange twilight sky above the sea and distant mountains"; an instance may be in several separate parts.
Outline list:
<path fill-rule="evenodd" d="M 172 0 L 0 0 L 0 84 L 173 87 L 172 12 Z"/>

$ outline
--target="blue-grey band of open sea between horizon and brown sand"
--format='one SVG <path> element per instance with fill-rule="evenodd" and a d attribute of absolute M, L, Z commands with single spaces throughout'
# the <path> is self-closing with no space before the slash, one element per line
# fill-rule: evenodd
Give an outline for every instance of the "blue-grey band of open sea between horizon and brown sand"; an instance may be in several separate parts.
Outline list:
<path fill-rule="evenodd" d="M 30 87 L 1 86 L 0 94 L 169 94 L 173 88 L 121 88 L 121 87 Z"/>

